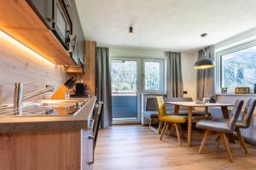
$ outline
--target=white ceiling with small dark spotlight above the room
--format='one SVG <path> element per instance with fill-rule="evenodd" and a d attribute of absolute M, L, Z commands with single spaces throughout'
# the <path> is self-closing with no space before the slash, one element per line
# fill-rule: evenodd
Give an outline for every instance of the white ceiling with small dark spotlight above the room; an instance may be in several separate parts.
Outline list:
<path fill-rule="evenodd" d="M 187 51 L 256 26 L 256 0 L 76 0 L 86 40 Z M 134 34 L 129 35 L 129 26 Z M 201 33 L 208 36 L 201 38 Z"/>

